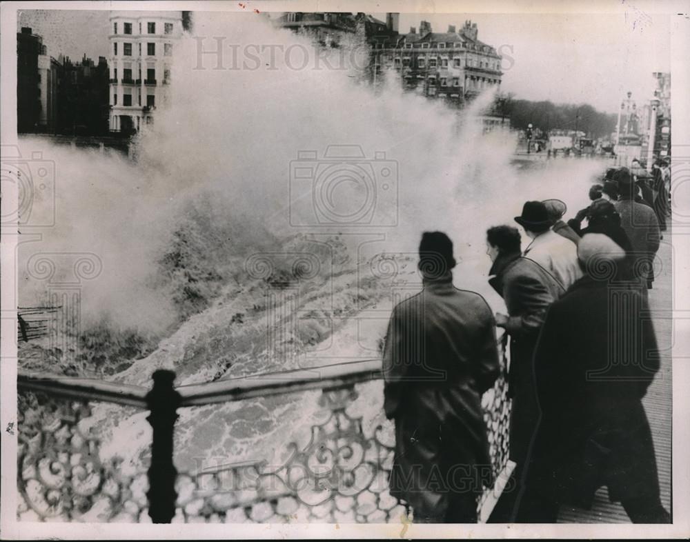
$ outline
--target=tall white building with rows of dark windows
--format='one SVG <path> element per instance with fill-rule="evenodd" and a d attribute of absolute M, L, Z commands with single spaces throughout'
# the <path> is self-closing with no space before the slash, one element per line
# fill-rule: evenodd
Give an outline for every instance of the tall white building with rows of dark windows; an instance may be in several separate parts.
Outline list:
<path fill-rule="evenodd" d="M 131 134 L 170 99 L 181 11 L 110 12 L 110 131 Z M 188 21 L 188 17 L 186 17 Z"/>

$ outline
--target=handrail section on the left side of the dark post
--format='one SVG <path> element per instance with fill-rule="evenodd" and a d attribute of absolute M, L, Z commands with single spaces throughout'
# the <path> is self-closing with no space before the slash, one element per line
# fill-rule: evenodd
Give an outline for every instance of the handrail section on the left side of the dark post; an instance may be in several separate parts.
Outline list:
<path fill-rule="evenodd" d="M 56 377 L 48 373 L 19 371 L 17 388 L 32 392 L 50 392 L 68 399 L 108 401 L 119 405 L 147 408 L 148 389 L 142 386 L 98 379 Z"/>

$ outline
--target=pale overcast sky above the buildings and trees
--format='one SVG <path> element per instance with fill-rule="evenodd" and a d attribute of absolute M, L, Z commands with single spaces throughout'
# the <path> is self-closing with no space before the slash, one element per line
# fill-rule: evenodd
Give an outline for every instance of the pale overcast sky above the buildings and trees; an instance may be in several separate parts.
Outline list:
<path fill-rule="evenodd" d="M 373 13 L 385 19 L 384 13 Z M 250 14 L 238 14 L 238 17 Z M 444 32 L 449 24 L 477 23 L 479 39 L 502 56 L 502 90 L 515 97 L 557 103 L 590 103 L 617 112 L 625 92 L 639 104 L 649 100 L 655 71 L 670 70 L 671 21 L 667 15 L 620 14 L 401 14 L 400 31 L 420 20 Z M 24 11 L 52 56 L 108 56 L 107 11 Z M 88 29 L 85 31 L 85 29 Z"/>

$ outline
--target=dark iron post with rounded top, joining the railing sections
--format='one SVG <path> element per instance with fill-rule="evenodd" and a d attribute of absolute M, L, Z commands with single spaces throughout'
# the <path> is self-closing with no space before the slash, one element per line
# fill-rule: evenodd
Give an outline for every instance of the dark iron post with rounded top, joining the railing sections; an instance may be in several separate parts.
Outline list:
<path fill-rule="evenodd" d="M 157 370 L 152 375 L 153 388 L 146 394 L 153 428 L 151 466 L 148 469 L 148 515 L 153 523 L 170 523 L 175 516 L 175 480 L 177 469 L 172 463 L 172 436 L 177 421 L 180 396 L 172 387 L 175 372 Z"/>

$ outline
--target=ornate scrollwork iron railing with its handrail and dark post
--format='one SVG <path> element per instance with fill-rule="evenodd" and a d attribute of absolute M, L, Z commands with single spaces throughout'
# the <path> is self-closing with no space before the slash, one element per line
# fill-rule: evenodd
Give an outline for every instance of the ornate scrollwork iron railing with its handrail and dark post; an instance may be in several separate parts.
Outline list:
<path fill-rule="evenodd" d="M 477 502 L 486 519 L 508 461 L 510 401 L 503 371 L 484 394 L 493 470 L 499 483 Z M 46 521 L 399 522 L 404 503 L 388 493 L 393 424 L 365 424 L 351 412 L 362 385 L 382 379 L 380 360 L 329 365 L 173 388 L 175 374 L 154 373 L 152 390 L 90 379 L 19 374 L 19 518 Z M 177 473 L 173 430 L 179 409 L 322 390 L 326 411 L 306 446 L 288 445 L 279 465 L 244 461 Z M 150 410 L 150 454 L 134 468 L 103 459 L 92 412 L 121 405 L 121 419 Z M 371 427 L 371 429 L 367 429 Z M 123 443 L 123 446 L 126 444 Z M 148 469 L 148 472 L 147 472 Z"/>

